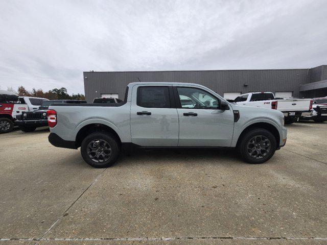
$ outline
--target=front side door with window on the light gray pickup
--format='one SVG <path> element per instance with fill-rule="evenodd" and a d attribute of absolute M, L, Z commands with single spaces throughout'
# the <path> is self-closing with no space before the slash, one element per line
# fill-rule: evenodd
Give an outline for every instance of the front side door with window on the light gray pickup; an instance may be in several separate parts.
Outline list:
<path fill-rule="evenodd" d="M 230 146 L 232 108 L 220 110 L 219 99 L 196 87 L 174 87 L 179 117 L 178 146 Z"/>

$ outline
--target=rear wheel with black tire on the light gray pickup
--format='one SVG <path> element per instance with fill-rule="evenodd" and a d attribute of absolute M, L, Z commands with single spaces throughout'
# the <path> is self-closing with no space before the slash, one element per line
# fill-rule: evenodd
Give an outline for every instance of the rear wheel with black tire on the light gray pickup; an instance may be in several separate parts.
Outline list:
<path fill-rule="evenodd" d="M 99 142 L 98 142 L 99 141 Z M 98 142 L 98 144 L 96 143 Z M 107 144 L 106 144 L 106 143 Z M 94 147 L 93 147 L 94 146 Z M 99 147 L 100 146 L 100 147 Z M 111 152 L 110 152 L 110 150 Z M 95 150 L 97 152 L 95 152 Z M 109 152 L 111 153 L 109 158 Z M 92 155 L 100 154 L 98 159 Z M 119 156 L 119 141 L 110 133 L 95 132 L 87 135 L 81 144 L 81 154 L 84 161 L 92 167 L 109 167 L 114 164 Z M 98 162 L 97 162 L 98 161 Z"/>

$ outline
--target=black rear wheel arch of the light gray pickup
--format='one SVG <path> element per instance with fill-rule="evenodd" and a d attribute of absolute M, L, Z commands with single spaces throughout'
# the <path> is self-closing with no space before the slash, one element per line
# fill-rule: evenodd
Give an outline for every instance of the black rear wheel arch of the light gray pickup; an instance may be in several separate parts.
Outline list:
<path fill-rule="evenodd" d="M 112 134 L 119 142 L 119 144 L 122 143 L 121 138 L 119 137 L 118 133 L 113 130 L 111 127 L 104 125 L 104 124 L 88 124 L 85 125 L 84 127 L 82 127 L 77 135 L 76 135 L 76 140 L 75 140 L 75 144 L 76 144 L 76 148 L 79 148 L 81 146 L 81 143 L 83 141 L 83 139 L 94 132 L 109 132 L 110 134 Z"/>

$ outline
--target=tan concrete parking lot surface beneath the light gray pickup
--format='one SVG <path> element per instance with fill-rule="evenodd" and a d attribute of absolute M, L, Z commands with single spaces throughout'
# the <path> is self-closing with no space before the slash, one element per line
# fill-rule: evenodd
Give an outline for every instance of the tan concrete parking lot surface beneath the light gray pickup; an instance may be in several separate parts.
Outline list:
<path fill-rule="evenodd" d="M 287 126 L 264 164 L 139 151 L 110 168 L 48 129 L 0 135 L 0 244 L 326 244 L 327 123 Z"/>

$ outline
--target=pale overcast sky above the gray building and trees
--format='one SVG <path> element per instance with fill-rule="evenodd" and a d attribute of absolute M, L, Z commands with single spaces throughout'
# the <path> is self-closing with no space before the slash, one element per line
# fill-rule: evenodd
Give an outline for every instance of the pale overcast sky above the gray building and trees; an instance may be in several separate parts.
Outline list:
<path fill-rule="evenodd" d="M 327 64 L 326 11 L 327 0 L 0 0 L 0 89 L 84 93 L 89 70 L 315 67 Z"/>

